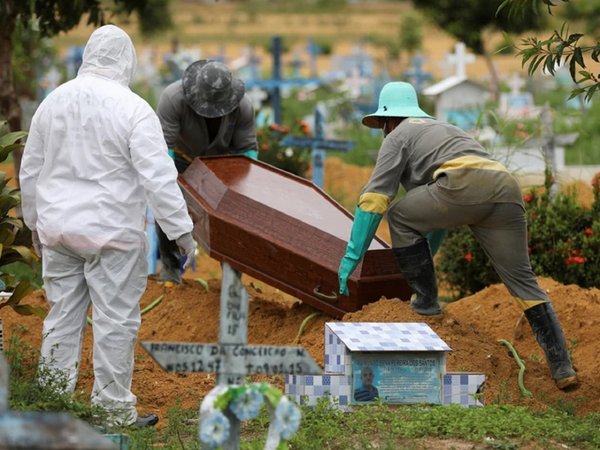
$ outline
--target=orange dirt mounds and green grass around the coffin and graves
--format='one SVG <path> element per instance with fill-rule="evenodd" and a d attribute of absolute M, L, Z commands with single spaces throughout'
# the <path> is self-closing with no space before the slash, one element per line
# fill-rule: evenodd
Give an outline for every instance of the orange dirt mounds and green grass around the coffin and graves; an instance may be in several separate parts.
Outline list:
<path fill-rule="evenodd" d="M 326 189 L 349 208 L 369 168 L 347 166 L 336 158 L 326 161 Z M 591 195 L 581 187 L 582 201 Z M 379 233 L 389 240 L 385 226 Z M 165 289 L 152 276 L 141 300 L 145 308 L 161 298 L 142 316 L 139 341 L 210 343 L 218 340 L 219 263 L 199 255 L 197 270 L 186 273 L 182 285 Z M 313 307 L 247 276 L 250 344 L 300 345 L 324 365 L 324 327 L 335 321 Z M 538 449 L 600 448 L 600 289 L 562 285 L 539 278 L 557 310 L 581 385 L 559 391 L 550 378 L 541 349 L 521 312 L 503 285 L 492 285 L 469 297 L 448 303 L 439 317 L 412 312 L 406 302 L 385 299 L 346 314 L 345 322 L 426 322 L 451 348 L 448 371 L 482 372 L 484 408 L 459 406 L 396 407 L 383 404 L 340 412 L 325 404 L 303 411 L 299 432 L 289 448 L 297 449 Z M 205 283 L 206 282 L 206 283 Z M 23 303 L 46 307 L 43 290 Z M 6 344 L 18 335 L 20 342 L 39 349 L 41 319 L 1 310 Z M 16 328 L 15 328 L 16 327 Z M 499 340 L 513 344 L 526 366 L 524 386 L 519 387 L 519 366 Z M 6 346 L 5 344 L 5 346 Z M 84 343 L 78 390 L 92 387 L 92 333 Z M 34 361 L 30 361 L 34 362 Z M 283 390 L 283 377 L 249 377 L 267 381 Z M 198 448 L 198 407 L 215 385 L 212 373 L 164 372 L 138 344 L 133 391 L 138 410 L 161 417 L 157 430 L 125 432 L 130 449 Z M 84 397 L 87 398 L 87 397 Z M 245 423 L 242 448 L 262 448 L 268 418 Z"/>

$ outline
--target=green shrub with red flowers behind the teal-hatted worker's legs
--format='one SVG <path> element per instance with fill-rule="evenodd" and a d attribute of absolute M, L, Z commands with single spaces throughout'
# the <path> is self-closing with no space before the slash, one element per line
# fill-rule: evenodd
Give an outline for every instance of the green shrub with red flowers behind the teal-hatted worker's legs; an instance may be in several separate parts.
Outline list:
<path fill-rule="evenodd" d="M 554 179 L 546 172 L 543 188 L 527 191 L 529 257 L 538 276 L 581 287 L 600 285 L 600 173 L 592 180 L 594 200 L 588 208 L 571 190 L 552 196 Z M 464 296 L 499 281 L 479 243 L 467 227 L 451 230 L 440 250 L 439 278 Z"/>

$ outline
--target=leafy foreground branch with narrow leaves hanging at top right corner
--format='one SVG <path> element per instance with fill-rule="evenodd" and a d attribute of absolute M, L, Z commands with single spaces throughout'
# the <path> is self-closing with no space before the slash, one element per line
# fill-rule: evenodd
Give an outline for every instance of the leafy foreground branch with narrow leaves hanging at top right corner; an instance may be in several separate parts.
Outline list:
<path fill-rule="evenodd" d="M 542 0 L 547 10 L 552 14 L 552 8 L 556 6 L 557 0 Z M 560 0 L 568 3 L 569 0 Z M 588 13 L 598 13 L 600 6 L 590 4 Z M 538 15 L 537 8 L 531 8 L 528 0 L 504 0 L 498 11 L 507 10 L 509 16 L 525 16 L 528 11 Z M 574 14 L 576 8 L 570 8 L 567 13 Z M 585 12 L 586 9 L 579 10 Z M 573 16 L 571 16 L 573 17 Z M 593 18 L 597 19 L 597 16 Z M 597 30 L 596 30 L 597 32 Z M 518 55 L 521 56 L 523 66 L 527 66 L 529 75 L 537 70 L 545 70 L 554 75 L 556 69 L 562 65 L 569 67 L 571 79 L 577 85 L 571 90 L 569 98 L 584 94 L 586 100 L 590 100 L 600 88 L 600 72 L 592 71 L 588 66 L 589 59 L 600 62 L 600 41 L 591 45 L 585 45 L 584 33 L 572 33 L 567 23 L 563 23 L 560 30 L 554 30 L 550 37 L 540 40 L 537 37 L 529 37 L 521 42 L 521 46 L 515 46 Z M 589 58 L 589 59 L 588 59 Z"/>

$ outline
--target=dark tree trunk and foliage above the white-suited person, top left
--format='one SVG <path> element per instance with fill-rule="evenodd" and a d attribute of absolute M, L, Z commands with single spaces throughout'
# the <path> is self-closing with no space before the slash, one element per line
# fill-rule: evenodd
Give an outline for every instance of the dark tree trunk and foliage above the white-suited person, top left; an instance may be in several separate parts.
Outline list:
<path fill-rule="evenodd" d="M 2 0 L 0 2 L 0 117 L 9 130 L 22 128 L 22 111 L 15 90 L 12 55 L 15 31 L 21 25 L 39 32 L 40 37 L 52 37 L 75 28 L 82 17 L 88 25 L 103 25 L 108 17 L 136 12 L 140 30 L 149 35 L 171 24 L 169 0 L 113 0 L 112 7 L 101 0 Z M 19 171 L 21 151 L 13 154 L 15 173 Z"/>

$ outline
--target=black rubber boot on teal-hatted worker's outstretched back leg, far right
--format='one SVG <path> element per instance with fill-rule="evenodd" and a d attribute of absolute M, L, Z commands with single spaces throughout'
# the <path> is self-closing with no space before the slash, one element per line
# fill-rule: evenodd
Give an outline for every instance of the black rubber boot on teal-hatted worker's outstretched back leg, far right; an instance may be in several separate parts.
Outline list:
<path fill-rule="evenodd" d="M 567 342 L 552 303 L 540 303 L 525 310 L 533 335 L 546 354 L 546 362 L 559 389 L 569 389 L 578 384 L 567 351 Z"/>

